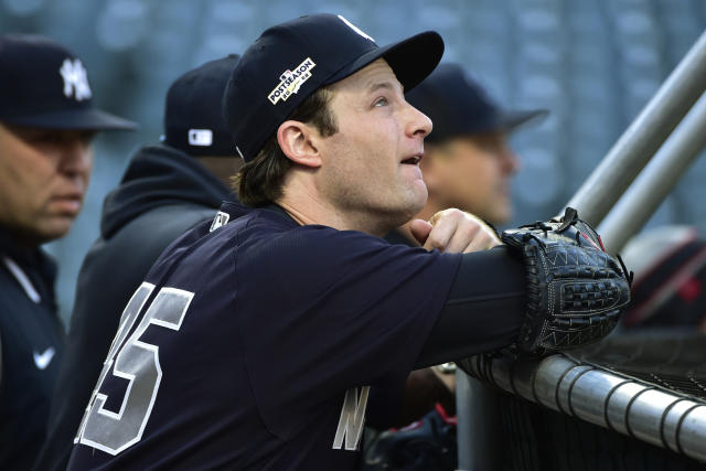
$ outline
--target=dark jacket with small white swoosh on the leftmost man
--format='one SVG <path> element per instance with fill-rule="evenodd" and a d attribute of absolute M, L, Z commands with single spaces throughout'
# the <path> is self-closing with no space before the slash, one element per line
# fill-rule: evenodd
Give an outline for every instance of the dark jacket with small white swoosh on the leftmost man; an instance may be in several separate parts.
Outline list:
<path fill-rule="evenodd" d="M 54 263 L 0 227 L 0 469 L 28 470 L 44 440 L 64 330 Z"/>

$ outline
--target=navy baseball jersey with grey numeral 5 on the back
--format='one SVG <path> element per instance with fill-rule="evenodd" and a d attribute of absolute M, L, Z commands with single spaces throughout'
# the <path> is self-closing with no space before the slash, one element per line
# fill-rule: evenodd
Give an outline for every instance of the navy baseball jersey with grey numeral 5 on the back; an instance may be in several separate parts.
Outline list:
<path fill-rule="evenodd" d="M 402 390 L 460 255 L 228 206 L 128 303 L 69 470 L 357 469 L 370 386 Z"/>

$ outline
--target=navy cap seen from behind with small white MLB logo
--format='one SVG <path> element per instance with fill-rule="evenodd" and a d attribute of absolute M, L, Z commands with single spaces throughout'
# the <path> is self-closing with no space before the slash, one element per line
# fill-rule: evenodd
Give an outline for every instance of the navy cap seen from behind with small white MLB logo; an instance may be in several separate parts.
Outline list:
<path fill-rule="evenodd" d="M 231 54 L 186 72 L 169 87 L 164 107 L 167 146 L 190 156 L 233 157 L 231 131 L 221 103 L 238 55 Z"/>

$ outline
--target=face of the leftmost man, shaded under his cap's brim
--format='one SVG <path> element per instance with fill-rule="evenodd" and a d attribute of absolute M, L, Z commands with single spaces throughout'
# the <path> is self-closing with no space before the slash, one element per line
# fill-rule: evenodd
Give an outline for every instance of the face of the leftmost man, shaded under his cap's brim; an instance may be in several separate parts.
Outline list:
<path fill-rule="evenodd" d="M 93 165 L 93 131 L 0 124 L 0 225 L 35 246 L 65 235 Z"/>

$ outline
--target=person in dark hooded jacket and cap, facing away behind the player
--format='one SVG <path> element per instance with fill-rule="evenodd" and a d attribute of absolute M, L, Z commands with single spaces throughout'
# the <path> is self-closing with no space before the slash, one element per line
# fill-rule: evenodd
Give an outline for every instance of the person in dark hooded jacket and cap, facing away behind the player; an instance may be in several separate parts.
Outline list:
<path fill-rule="evenodd" d="M 161 251 L 223 201 L 242 163 L 221 100 L 237 55 L 210 61 L 174 81 L 165 98 L 162 144 L 137 150 L 104 203 L 100 236 L 79 276 L 64 363 L 38 470 L 63 470 L 120 314 Z M 109 280 L 109 282 L 107 282 Z"/>

